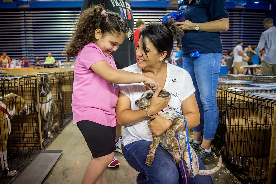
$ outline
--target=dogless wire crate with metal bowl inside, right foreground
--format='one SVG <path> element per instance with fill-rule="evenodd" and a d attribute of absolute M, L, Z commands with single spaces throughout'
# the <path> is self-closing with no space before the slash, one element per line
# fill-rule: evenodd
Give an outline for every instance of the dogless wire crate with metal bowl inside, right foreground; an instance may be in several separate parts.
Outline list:
<path fill-rule="evenodd" d="M 269 156 L 273 158 L 270 154 L 275 154 L 270 144 L 275 141 L 271 134 L 273 122 L 276 123 L 276 101 L 264 96 L 276 94 L 276 90 L 226 93 L 224 161 L 243 183 L 266 183 L 269 161 L 273 160 Z"/>

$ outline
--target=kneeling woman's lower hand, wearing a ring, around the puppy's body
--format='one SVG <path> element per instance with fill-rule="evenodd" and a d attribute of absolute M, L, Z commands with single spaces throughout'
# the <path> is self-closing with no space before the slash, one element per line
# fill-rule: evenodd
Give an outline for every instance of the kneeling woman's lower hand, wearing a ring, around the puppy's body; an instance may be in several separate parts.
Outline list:
<path fill-rule="evenodd" d="M 161 136 L 166 133 L 168 128 L 171 126 L 171 120 L 166 119 L 159 115 L 154 115 L 151 117 L 152 120 L 148 121 L 150 133 L 153 137 Z"/>

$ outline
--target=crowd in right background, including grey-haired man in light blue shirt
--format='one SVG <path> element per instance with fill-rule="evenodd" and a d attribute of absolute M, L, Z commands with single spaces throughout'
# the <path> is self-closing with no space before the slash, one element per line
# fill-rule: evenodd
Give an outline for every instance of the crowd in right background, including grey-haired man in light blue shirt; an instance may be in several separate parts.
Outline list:
<path fill-rule="evenodd" d="M 276 75 L 276 28 L 273 20 L 263 21 L 265 30 L 258 45 L 248 45 L 243 49 L 243 40 L 238 40 L 234 49 L 227 50 L 222 65 L 227 65 L 228 74 Z M 255 65 L 255 66 L 248 66 Z"/>

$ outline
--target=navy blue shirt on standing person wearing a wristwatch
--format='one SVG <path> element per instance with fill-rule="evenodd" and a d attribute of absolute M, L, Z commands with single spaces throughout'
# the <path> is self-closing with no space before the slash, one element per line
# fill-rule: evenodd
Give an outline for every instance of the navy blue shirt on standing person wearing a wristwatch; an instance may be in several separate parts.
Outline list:
<path fill-rule="evenodd" d="M 184 12 L 185 19 L 193 23 L 203 23 L 228 18 L 228 12 L 223 0 L 187 0 L 180 2 L 177 13 Z M 200 27 L 200 25 L 199 25 Z M 196 51 L 200 53 L 222 53 L 223 47 L 220 32 L 185 31 L 181 39 L 182 54 Z"/>

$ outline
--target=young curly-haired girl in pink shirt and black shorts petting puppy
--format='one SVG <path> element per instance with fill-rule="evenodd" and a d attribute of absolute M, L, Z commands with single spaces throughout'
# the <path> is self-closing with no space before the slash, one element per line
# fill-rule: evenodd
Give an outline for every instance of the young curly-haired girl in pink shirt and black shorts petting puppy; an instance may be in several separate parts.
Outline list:
<path fill-rule="evenodd" d="M 138 73 L 116 69 L 111 52 L 127 34 L 122 17 L 102 6 L 83 11 L 73 37 L 66 46 L 66 57 L 74 58 L 73 123 L 77 123 L 92 153 L 82 184 L 102 182 L 105 168 L 114 158 L 118 84 L 158 82 Z"/>

